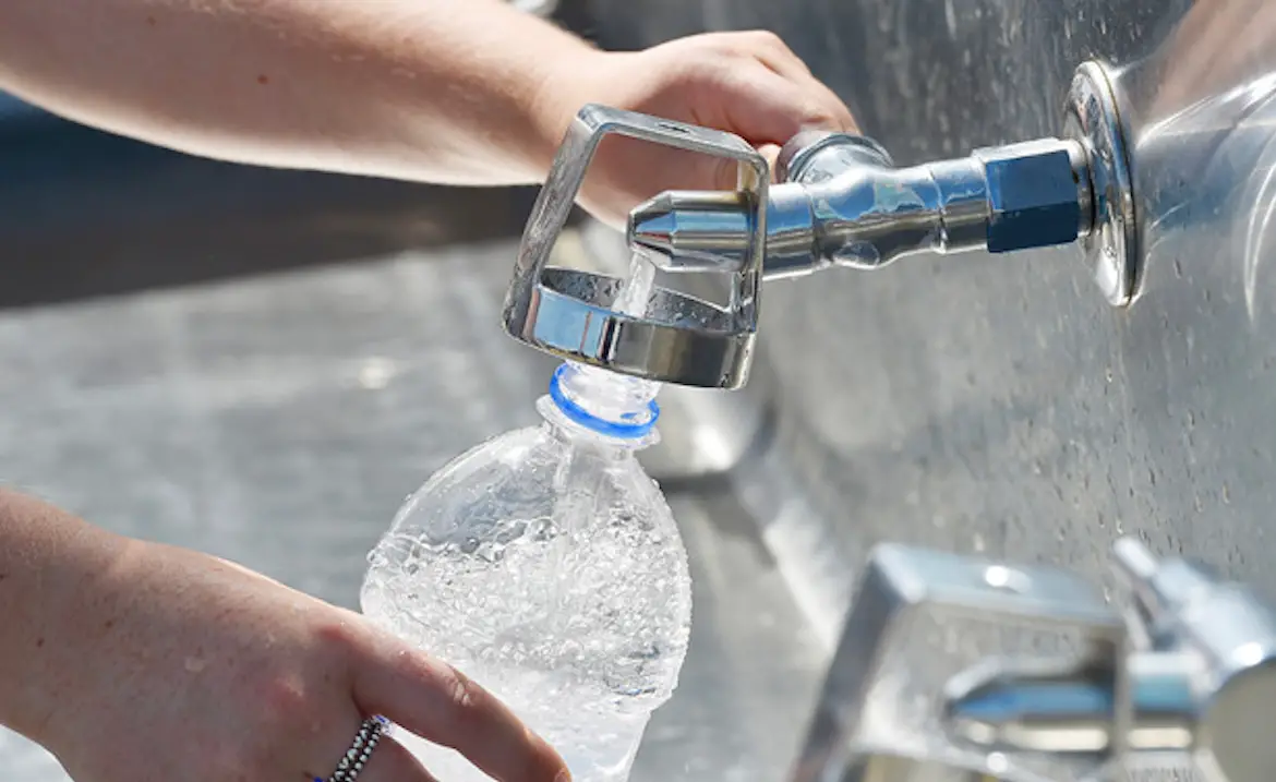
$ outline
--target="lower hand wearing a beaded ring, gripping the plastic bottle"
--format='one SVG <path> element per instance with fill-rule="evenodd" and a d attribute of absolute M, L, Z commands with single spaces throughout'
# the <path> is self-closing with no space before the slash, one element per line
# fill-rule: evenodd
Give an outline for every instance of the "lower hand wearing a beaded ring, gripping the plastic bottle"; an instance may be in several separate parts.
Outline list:
<path fill-rule="evenodd" d="M 41 740 L 77 782 L 327 779 L 367 716 L 495 779 L 563 782 L 563 760 L 495 697 L 359 615 L 202 554 L 130 542 L 84 601 Z M 47 740 L 46 740 L 47 739 Z M 427 782 L 390 737 L 360 782 Z"/>

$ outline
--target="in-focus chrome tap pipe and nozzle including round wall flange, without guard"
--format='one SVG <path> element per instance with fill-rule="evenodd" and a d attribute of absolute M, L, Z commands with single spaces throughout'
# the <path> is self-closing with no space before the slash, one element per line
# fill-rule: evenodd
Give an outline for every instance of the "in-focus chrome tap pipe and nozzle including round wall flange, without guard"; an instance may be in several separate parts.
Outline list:
<path fill-rule="evenodd" d="M 1114 305 L 1136 292 L 1133 200 L 1116 101 L 1102 66 L 1078 69 L 1064 138 L 897 168 L 873 139 L 803 133 L 781 151 L 767 199 L 766 279 L 879 269 L 921 253 L 1012 253 L 1081 240 Z M 702 268 L 735 264 L 746 203 L 664 193 L 633 210 L 630 245 Z"/>

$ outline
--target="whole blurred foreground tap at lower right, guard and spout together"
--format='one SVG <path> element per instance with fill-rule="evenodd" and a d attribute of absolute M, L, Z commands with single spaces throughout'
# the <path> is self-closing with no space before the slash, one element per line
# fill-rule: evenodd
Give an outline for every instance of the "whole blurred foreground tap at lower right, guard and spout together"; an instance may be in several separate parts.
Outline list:
<path fill-rule="evenodd" d="M 1137 538 L 1113 554 L 1127 583 L 1115 605 L 1053 566 L 878 546 L 790 782 L 1100 782 L 1171 768 L 1208 782 L 1271 779 L 1276 612 L 1247 586 L 1157 560 Z M 919 638 L 921 620 L 949 642 Z M 961 662 L 951 639 L 989 629 L 1067 635 L 1074 651 L 994 646 Z M 938 672 L 921 693 L 929 707 L 879 702 L 898 697 L 882 685 L 900 675 L 901 654 Z M 933 719 L 874 725 L 874 714 L 914 712 Z"/>

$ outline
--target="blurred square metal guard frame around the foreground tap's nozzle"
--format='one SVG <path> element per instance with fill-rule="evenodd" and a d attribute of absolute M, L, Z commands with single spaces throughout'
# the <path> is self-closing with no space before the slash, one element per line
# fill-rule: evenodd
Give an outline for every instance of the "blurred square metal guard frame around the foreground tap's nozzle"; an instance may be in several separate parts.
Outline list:
<path fill-rule="evenodd" d="M 934 680 L 935 674 L 942 676 L 946 663 L 953 663 L 944 656 L 958 654 L 962 644 L 926 648 L 928 653 L 939 652 L 938 660 L 928 656 L 926 670 L 917 671 L 917 676 L 901 670 L 905 658 L 916 658 L 907 649 L 924 642 L 920 633 L 934 624 L 939 624 L 946 638 L 960 638 L 960 633 L 948 630 L 965 624 L 985 630 L 993 626 L 1062 631 L 1082 642 L 1083 661 L 1115 660 L 1127 639 L 1125 624 L 1104 601 L 1102 592 L 1073 573 L 1044 565 L 1014 568 L 896 543 L 878 545 L 859 579 L 789 782 L 1074 778 L 1049 776 L 1042 768 L 1054 764 L 1042 758 L 1020 762 L 1011 753 L 962 745 L 937 732 L 943 726 L 935 725 L 930 714 L 940 711 L 948 693 L 919 691 L 916 688 L 925 685 L 917 682 Z M 1064 661 L 1048 662 L 1049 666 L 1036 666 L 1036 671 L 1044 674 Z M 886 703 L 891 698 L 901 700 Z M 976 736 L 995 735 L 997 726 L 985 725 L 988 711 L 972 714 L 961 727 Z M 1068 759 L 1069 767 L 1086 773 L 1099 772 L 1106 764 L 1106 756 L 1095 753 Z M 951 773 L 940 774 L 940 767 Z"/>

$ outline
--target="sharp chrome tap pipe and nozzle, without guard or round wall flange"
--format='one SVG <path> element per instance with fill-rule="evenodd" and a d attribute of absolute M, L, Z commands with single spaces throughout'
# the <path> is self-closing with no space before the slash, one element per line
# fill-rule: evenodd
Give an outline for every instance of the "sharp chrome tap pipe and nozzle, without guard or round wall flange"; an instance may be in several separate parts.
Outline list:
<path fill-rule="evenodd" d="M 767 202 L 763 277 L 835 265 L 878 269 L 919 253 L 1008 253 L 1090 233 L 1090 173 L 1078 142 L 1040 139 L 896 168 L 874 140 L 799 134 L 781 151 Z M 634 246 L 702 264 L 738 263 L 743 204 L 664 193 L 629 217 Z"/>

